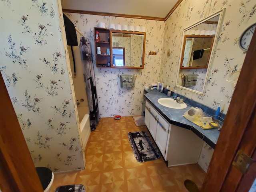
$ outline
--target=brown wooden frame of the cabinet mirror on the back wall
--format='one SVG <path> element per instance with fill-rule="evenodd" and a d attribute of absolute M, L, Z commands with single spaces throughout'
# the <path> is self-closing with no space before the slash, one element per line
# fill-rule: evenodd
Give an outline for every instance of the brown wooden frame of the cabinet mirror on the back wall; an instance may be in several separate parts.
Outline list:
<path fill-rule="evenodd" d="M 143 69 L 144 68 L 144 57 L 145 57 L 146 32 L 133 32 L 133 31 L 121 31 L 121 30 L 109 30 L 109 31 L 110 31 L 109 39 L 110 39 L 110 66 L 111 66 L 111 68 Z M 135 67 L 135 66 L 113 66 L 112 33 L 143 35 L 142 66 L 139 66 L 139 67 Z"/>

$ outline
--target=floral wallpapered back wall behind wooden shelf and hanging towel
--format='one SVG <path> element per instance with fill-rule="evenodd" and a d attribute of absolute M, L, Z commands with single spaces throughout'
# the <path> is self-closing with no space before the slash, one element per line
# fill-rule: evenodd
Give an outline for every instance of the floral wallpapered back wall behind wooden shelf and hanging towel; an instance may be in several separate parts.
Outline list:
<path fill-rule="evenodd" d="M 74 25 L 90 41 L 94 58 L 94 73 L 101 117 L 140 115 L 143 112 L 142 104 L 144 86 L 156 83 L 160 74 L 164 22 L 133 18 L 96 16 L 88 14 L 64 13 Z M 96 68 L 94 27 L 104 22 L 106 28 L 110 23 L 146 27 L 146 48 L 144 69 Z M 156 56 L 148 52 L 157 52 Z M 134 88 L 120 88 L 118 74 L 137 74 Z"/>

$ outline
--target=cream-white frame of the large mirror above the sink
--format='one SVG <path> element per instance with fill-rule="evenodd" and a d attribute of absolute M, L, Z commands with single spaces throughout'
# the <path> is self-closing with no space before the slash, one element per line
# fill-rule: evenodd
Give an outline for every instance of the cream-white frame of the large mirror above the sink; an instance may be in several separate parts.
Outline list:
<path fill-rule="evenodd" d="M 208 67 L 207 67 L 207 71 L 206 71 L 206 74 L 205 74 L 205 79 L 204 79 L 204 87 L 202 88 L 202 91 L 197 91 L 197 90 L 193 90 L 193 89 L 190 89 L 190 88 L 187 88 L 187 87 L 184 87 L 184 86 L 180 86 L 178 85 L 178 78 L 180 76 L 180 70 L 186 70 L 186 69 L 192 69 L 192 68 L 180 68 L 180 64 L 181 64 L 181 60 L 183 60 L 182 58 L 182 50 L 183 50 L 183 46 L 184 46 L 184 38 L 185 38 L 185 32 L 203 22 L 206 22 L 207 20 L 210 20 L 211 18 L 214 18 L 216 16 L 219 15 L 219 20 L 218 20 L 218 25 L 217 25 L 217 28 L 216 28 L 216 34 L 215 34 L 215 37 L 218 36 L 218 34 L 220 33 L 220 28 L 222 26 L 222 22 L 223 22 L 223 15 L 225 13 L 225 8 L 220 10 L 219 12 L 216 12 L 215 14 L 212 14 L 211 16 L 203 19 L 203 20 L 200 20 L 199 22 L 193 24 L 192 26 L 189 26 L 187 28 L 185 28 L 183 30 L 183 34 L 182 34 L 182 46 L 181 46 L 181 50 L 180 50 L 180 59 L 179 59 L 179 64 L 178 64 L 178 70 L 177 70 L 177 76 L 176 76 L 176 82 L 175 82 L 175 87 L 178 87 L 180 89 L 183 89 L 183 90 L 187 90 L 187 91 L 190 91 L 190 92 L 193 92 L 193 93 L 196 93 L 196 94 L 199 94 L 199 95 L 204 95 L 204 91 L 205 91 L 205 88 L 206 88 L 206 82 L 208 80 L 208 76 L 209 76 L 209 72 L 210 72 L 210 67 L 211 67 L 211 64 L 212 64 L 212 57 L 213 57 L 213 54 L 214 54 L 214 50 L 216 48 L 216 41 L 218 38 L 214 38 L 214 41 L 213 41 L 213 46 L 212 46 L 212 51 L 210 53 L 210 58 L 209 58 L 209 62 L 208 62 Z"/>

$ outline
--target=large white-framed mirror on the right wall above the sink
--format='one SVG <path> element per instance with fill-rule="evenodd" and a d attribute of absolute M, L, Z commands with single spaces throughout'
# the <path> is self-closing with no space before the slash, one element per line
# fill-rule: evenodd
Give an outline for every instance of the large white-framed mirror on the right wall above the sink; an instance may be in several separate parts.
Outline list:
<path fill-rule="evenodd" d="M 224 10 L 183 30 L 176 87 L 204 94 Z"/>

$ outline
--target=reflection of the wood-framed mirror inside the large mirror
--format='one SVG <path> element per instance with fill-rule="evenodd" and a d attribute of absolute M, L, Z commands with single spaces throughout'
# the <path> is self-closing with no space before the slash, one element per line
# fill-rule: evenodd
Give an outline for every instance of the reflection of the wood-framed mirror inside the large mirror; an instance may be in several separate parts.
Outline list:
<path fill-rule="evenodd" d="M 185 35 L 180 68 L 207 68 L 214 36 Z"/>

